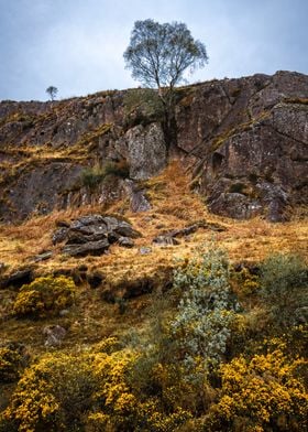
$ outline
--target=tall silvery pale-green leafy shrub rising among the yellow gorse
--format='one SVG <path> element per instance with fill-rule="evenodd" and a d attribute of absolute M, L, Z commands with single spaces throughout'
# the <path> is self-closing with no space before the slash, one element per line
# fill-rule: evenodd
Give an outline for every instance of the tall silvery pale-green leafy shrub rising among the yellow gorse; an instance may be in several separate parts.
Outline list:
<path fill-rule="evenodd" d="M 217 367 L 227 353 L 238 309 L 228 278 L 227 257 L 213 247 L 175 272 L 174 285 L 184 294 L 170 332 L 193 375 L 197 365 L 201 375 Z"/>

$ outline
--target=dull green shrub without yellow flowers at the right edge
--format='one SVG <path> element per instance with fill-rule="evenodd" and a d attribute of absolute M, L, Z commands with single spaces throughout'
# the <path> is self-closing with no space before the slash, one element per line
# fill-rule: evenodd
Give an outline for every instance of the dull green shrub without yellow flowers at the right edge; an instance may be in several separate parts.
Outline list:
<path fill-rule="evenodd" d="M 276 253 L 261 266 L 261 298 L 276 327 L 307 320 L 308 268 L 296 255 Z"/>

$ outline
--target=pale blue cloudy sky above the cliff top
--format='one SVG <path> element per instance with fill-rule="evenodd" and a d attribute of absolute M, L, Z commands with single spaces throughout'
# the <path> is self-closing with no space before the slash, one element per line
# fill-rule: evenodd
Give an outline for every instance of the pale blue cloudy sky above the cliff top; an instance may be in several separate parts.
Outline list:
<path fill-rule="evenodd" d="M 179 21 L 209 63 L 189 83 L 308 74 L 308 0 L 0 0 L 0 100 L 138 87 L 123 52 L 136 20 Z"/>

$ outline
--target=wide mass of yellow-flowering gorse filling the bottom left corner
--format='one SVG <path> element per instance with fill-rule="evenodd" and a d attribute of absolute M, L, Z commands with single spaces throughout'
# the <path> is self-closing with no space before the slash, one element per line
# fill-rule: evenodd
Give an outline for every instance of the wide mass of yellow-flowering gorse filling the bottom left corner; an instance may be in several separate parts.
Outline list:
<path fill-rule="evenodd" d="M 0 430 L 175 431 L 190 415 L 179 407 L 164 412 L 160 399 L 133 392 L 128 375 L 138 356 L 123 349 L 41 358 L 19 381 Z"/>

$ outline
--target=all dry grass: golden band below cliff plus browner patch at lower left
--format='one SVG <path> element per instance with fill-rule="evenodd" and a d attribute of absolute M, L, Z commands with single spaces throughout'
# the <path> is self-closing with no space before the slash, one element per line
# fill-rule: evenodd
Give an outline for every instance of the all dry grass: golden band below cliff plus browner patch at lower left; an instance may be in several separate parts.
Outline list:
<path fill-rule="evenodd" d="M 87 206 L 53 212 L 47 216 L 33 217 L 22 225 L 0 226 L 0 262 L 9 266 L 8 271 L 30 263 L 30 258 L 42 250 L 53 250 L 54 257 L 36 264 L 37 274 L 48 274 L 57 269 L 76 269 L 81 263 L 89 271 L 100 270 L 110 283 L 123 279 L 153 274 L 175 266 L 176 258 L 187 258 L 195 253 L 198 246 L 216 239 L 217 244 L 229 251 L 232 261 L 258 261 L 273 251 L 295 251 L 307 257 L 308 227 L 305 220 L 286 224 L 270 224 L 261 218 L 233 220 L 211 215 L 201 198 L 189 190 L 189 177 L 183 174 L 178 162 L 172 163 L 160 176 L 144 185 L 152 202 L 152 210 L 124 216 L 140 230 L 143 237 L 135 240 L 132 249 L 113 245 L 109 255 L 100 257 L 69 258 L 61 253 L 61 246 L 52 245 L 55 224 L 61 219 L 74 219 L 90 212 L 102 212 L 100 206 Z M 109 212 L 123 212 L 128 203 L 119 202 Z M 160 233 L 183 228 L 196 220 L 219 223 L 227 229 L 213 233 L 200 228 L 180 245 L 158 247 L 152 240 Z M 140 247 L 152 248 L 150 255 L 141 255 Z M 0 291 L 0 317 L 10 311 L 15 292 Z M 40 354 L 44 346 L 42 328 L 48 324 L 59 324 L 68 330 L 68 337 L 61 349 L 81 349 L 109 335 L 130 335 L 132 330 L 141 331 L 150 318 L 153 295 L 146 294 L 130 300 L 124 315 L 120 315 L 117 304 L 101 300 L 100 290 L 90 290 L 87 284 L 78 287 L 77 303 L 67 317 L 56 317 L 45 322 L 8 318 L 1 325 L 1 339 L 22 341 L 30 347 L 31 354 Z"/>

